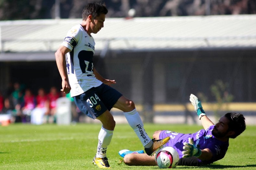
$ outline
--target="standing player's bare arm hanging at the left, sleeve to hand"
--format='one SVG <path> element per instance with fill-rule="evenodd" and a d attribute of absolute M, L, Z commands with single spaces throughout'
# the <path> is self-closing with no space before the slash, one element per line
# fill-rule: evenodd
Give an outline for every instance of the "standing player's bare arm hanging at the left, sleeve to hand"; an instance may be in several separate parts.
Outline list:
<path fill-rule="evenodd" d="M 69 85 L 68 76 L 67 76 L 67 69 L 66 69 L 66 54 L 70 50 L 65 46 L 60 46 L 58 50 L 55 52 L 55 59 L 57 63 L 57 67 L 62 79 L 62 89 L 64 93 L 69 93 L 71 90 L 71 87 Z"/>

